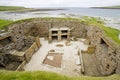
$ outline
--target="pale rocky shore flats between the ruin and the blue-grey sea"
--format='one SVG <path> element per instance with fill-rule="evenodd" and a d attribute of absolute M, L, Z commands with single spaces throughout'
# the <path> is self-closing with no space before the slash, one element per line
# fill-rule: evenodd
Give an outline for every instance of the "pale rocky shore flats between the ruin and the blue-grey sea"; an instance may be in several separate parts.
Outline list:
<path fill-rule="evenodd" d="M 3 20 L 21 20 L 27 18 L 37 18 L 37 17 L 73 17 L 73 18 L 81 18 L 84 15 L 74 14 L 74 13 L 64 13 L 62 11 L 67 11 L 67 9 L 60 8 L 41 8 L 41 9 L 33 9 L 29 11 L 2 11 L 0 12 L 0 19 Z M 58 12 L 58 13 L 57 13 Z M 118 17 L 103 17 L 103 16 L 91 16 L 104 20 L 105 25 L 116 28 L 120 30 L 120 19 Z"/>

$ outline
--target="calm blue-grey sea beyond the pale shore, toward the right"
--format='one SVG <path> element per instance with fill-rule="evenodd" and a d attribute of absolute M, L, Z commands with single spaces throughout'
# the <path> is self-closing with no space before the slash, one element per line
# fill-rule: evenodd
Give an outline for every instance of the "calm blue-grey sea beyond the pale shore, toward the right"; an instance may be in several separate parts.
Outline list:
<path fill-rule="evenodd" d="M 93 9 L 93 8 L 65 8 L 66 10 L 49 11 L 53 14 L 76 14 L 84 16 L 101 16 L 101 17 L 119 17 L 120 9 Z"/>

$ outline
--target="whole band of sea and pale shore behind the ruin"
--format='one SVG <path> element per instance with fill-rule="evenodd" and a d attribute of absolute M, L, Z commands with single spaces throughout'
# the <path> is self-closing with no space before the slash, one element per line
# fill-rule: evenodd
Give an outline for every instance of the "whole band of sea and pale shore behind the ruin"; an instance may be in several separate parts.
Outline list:
<path fill-rule="evenodd" d="M 103 20 L 105 20 L 107 26 L 120 29 L 120 9 L 95 9 L 78 7 L 49 8 L 49 9 L 63 9 L 63 10 L 33 11 L 33 12 L 0 12 L 0 19 L 20 20 L 34 17 L 92 16 L 101 17 Z"/>

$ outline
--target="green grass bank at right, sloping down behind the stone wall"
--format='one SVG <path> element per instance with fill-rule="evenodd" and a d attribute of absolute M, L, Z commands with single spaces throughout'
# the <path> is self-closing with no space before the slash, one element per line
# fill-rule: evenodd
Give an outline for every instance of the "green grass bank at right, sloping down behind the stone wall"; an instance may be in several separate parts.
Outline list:
<path fill-rule="evenodd" d="M 105 26 L 104 21 L 102 21 L 99 18 L 97 19 L 94 17 L 84 16 L 82 19 L 83 19 L 82 21 L 84 21 L 88 25 L 100 27 L 105 32 L 106 36 L 110 37 L 116 43 L 120 44 L 120 40 L 118 39 L 118 35 L 120 34 L 120 30 Z"/>

